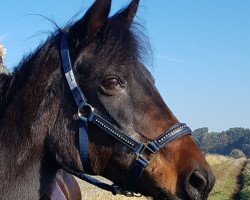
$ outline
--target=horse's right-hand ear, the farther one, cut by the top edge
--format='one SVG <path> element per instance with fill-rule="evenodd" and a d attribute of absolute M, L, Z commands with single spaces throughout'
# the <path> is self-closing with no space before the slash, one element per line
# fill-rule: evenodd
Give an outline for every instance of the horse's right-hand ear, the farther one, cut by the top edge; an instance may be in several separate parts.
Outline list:
<path fill-rule="evenodd" d="M 114 18 L 123 21 L 127 27 L 130 27 L 136 15 L 139 0 L 132 0 L 131 3 L 123 10 L 114 15 Z"/>

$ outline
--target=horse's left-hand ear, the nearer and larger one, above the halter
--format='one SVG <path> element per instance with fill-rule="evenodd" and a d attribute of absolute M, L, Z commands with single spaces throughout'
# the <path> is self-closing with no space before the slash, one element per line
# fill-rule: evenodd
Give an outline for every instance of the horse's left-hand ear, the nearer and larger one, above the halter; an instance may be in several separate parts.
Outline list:
<path fill-rule="evenodd" d="M 96 0 L 86 14 L 70 30 L 78 38 L 91 38 L 107 22 L 110 7 L 111 0 Z"/>

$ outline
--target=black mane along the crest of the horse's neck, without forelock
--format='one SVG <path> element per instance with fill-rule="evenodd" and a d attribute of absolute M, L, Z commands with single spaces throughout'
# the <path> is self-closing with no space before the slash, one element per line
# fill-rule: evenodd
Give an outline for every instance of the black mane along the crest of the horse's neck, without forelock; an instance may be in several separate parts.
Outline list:
<path fill-rule="evenodd" d="M 25 55 L 19 64 L 9 75 L 0 74 L 0 118 L 8 105 L 9 101 L 15 95 L 15 92 L 21 90 L 28 80 L 34 78 L 39 67 L 48 60 L 59 60 L 55 54 L 57 46 L 55 40 L 59 37 L 61 31 L 56 31 L 49 36 L 47 40 L 40 44 L 34 52 Z"/>

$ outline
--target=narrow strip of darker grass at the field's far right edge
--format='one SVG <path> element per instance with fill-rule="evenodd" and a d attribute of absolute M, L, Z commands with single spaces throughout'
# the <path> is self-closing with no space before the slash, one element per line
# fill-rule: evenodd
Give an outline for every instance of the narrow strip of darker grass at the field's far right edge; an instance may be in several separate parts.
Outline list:
<path fill-rule="evenodd" d="M 240 199 L 241 200 L 249 200 L 250 199 L 250 160 L 248 160 L 247 165 L 242 172 L 243 175 L 243 188 L 240 191 Z"/>

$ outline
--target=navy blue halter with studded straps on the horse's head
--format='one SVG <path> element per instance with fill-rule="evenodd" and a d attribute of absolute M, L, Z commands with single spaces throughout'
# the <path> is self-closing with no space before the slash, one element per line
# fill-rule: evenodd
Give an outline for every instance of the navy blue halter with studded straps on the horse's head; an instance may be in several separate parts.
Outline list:
<path fill-rule="evenodd" d="M 156 139 L 148 142 L 141 143 L 129 136 L 129 134 L 123 133 L 118 130 L 113 124 L 108 122 L 102 116 L 99 116 L 93 109 L 93 107 L 88 104 L 87 98 L 82 92 L 81 88 L 78 86 L 75 79 L 72 67 L 71 59 L 68 47 L 68 34 L 64 33 L 61 39 L 61 59 L 62 66 L 67 79 L 68 85 L 78 106 L 79 115 L 79 150 L 80 156 L 83 163 L 85 173 L 90 171 L 90 159 L 89 159 L 89 139 L 88 139 L 88 124 L 95 124 L 97 127 L 101 128 L 107 134 L 121 142 L 128 149 L 135 154 L 135 160 L 131 166 L 131 175 L 129 177 L 127 187 L 125 190 L 121 189 L 116 185 L 108 185 L 96 180 L 85 173 L 75 174 L 79 178 L 96 185 L 102 189 L 111 191 L 113 194 L 123 194 L 126 196 L 133 196 L 133 192 L 138 191 L 138 184 L 144 169 L 148 166 L 149 160 L 144 156 L 145 151 L 150 154 L 156 154 L 161 148 L 166 146 L 172 140 L 182 137 L 184 135 L 190 135 L 190 128 L 183 123 L 175 124 L 170 127 L 167 131 L 161 134 Z M 72 172 L 71 172 L 72 173 Z M 133 191 L 133 192 L 131 192 Z"/>

